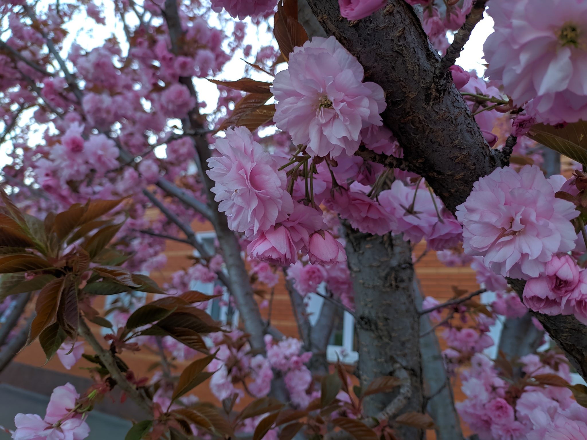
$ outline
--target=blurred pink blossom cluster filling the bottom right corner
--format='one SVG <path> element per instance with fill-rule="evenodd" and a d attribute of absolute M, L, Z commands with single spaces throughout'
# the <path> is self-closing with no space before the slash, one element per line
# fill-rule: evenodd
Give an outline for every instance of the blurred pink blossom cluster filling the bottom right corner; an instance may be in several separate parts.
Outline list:
<path fill-rule="evenodd" d="M 559 363 L 555 371 L 535 354 L 522 357 L 520 362 L 529 376 L 558 374 L 571 380 L 565 363 Z M 511 393 L 510 384 L 498 377 L 483 354 L 471 359 L 471 368 L 463 372 L 461 380 L 467 400 L 456 404 L 457 411 L 480 439 L 587 439 L 587 409 L 573 400 L 567 388 L 526 386 Z M 521 395 L 517 394 L 520 391 Z"/>

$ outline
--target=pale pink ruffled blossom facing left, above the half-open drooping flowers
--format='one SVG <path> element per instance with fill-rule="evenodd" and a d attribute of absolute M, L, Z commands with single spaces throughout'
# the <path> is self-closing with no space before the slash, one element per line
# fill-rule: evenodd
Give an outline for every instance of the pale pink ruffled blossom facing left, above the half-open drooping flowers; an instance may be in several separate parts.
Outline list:
<path fill-rule="evenodd" d="M 275 225 L 280 212 L 293 211 L 292 199 L 284 191 L 285 171 L 277 171 L 275 160 L 247 128 L 227 130 L 214 147 L 222 156 L 208 159 L 207 174 L 216 182 L 211 191 L 232 231 L 252 236 Z"/>

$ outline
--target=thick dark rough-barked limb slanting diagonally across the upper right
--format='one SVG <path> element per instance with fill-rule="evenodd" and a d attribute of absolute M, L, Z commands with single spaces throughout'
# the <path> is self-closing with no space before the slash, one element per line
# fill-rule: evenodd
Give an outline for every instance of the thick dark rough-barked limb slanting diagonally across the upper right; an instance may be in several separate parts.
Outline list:
<path fill-rule="evenodd" d="M 308 4 L 326 33 L 357 57 L 365 68 L 365 80 L 383 87 L 387 101 L 383 120 L 402 146 L 410 171 L 423 175 L 454 212 L 475 181 L 506 162 L 483 139 L 450 72 L 436 73 L 440 57 L 411 6 L 390 0 L 382 10 L 349 22 L 340 16 L 336 0 L 308 0 Z M 376 160 L 386 159 L 377 156 Z M 521 295 L 524 282 L 510 280 L 510 284 Z M 587 326 L 574 316 L 532 314 L 587 378 Z"/>

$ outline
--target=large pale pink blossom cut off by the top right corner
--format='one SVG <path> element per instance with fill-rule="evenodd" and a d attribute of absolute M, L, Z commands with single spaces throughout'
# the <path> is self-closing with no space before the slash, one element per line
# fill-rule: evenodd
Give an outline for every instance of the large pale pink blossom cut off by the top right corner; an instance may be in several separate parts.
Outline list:
<path fill-rule="evenodd" d="M 490 4 L 494 30 L 483 46 L 485 75 L 504 84 L 517 106 L 539 122 L 587 119 L 587 56 L 582 0 L 499 0 Z"/>

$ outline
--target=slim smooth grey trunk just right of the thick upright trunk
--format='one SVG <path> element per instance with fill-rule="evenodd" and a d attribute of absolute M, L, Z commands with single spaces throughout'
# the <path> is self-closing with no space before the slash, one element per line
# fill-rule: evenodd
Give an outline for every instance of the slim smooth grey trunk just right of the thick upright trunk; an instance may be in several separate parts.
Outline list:
<path fill-rule="evenodd" d="M 421 307 L 422 295 L 419 283 L 414 280 L 414 296 L 416 304 Z M 450 378 L 444 369 L 444 361 L 440 344 L 434 327 L 426 314 L 420 316 L 420 329 L 424 336 L 420 339 L 420 353 L 422 356 L 422 373 L 429 395 L 426 397 L 426 408 L 436 425 L 438 440 L 463 440 L 460 418 L 454 408 L 453 388 Z M 423 408 L 424 409 L 424 408 Z"/>

